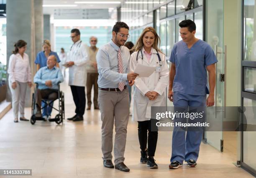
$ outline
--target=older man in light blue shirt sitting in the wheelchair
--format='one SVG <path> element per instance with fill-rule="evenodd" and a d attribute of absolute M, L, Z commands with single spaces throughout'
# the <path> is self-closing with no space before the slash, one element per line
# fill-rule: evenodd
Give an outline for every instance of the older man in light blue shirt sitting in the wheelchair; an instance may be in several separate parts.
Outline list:
<path fill-rule="evenodd" d="M 58 98 L 58 83 L 63 82 L 61 70 L 56 67 L 57 59 L 55 55 L 50 55 L 47 58 L 47 66 L 40 68 L 34 76 L 34 83 L 38 83 L 38 90 L 36 91 L 36 117 L 41 117 L 41 101 L 42 98 L 48 100 L 56 100 Z M 52 108 L 50 106 L 44 108 L 46 112 L 43 117 L 46 119 L 51 116 Z"/>

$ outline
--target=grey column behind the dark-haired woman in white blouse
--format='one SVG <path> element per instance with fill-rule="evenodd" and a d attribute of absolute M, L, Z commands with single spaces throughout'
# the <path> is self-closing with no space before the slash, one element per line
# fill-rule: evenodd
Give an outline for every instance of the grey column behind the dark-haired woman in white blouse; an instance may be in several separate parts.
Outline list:
<path fill-rule="evenodd" d="M 38 44 L 42 41 L 40 40 L 40 35 L 42 35 L 42 30 L 40 31 L 40 29 L 42 29 L 42 20 L 40 23 L 40 17 L 42 16 L 42 0 L 8 0 L 6 1 L 6 13 L 7 66 L 9 64 L 10 55 L 14 49 L 14 43 L 18 40 L 25 40 L 28 43 L 26 53 L 30 59 L 31 77 L 33 80 L 35 74 L 34 60 L 36 58 L 36 41 Z M 35 24 L 35 21 L 37 25 Z M 35 31 L 35 29 L 38 31 Z M 31 93 L 33 93 L 33 89 L 28 87 L 25 101 L 26 107 L 31 106 Z M 11 100 L 9 88 L 7 100 Z"/>

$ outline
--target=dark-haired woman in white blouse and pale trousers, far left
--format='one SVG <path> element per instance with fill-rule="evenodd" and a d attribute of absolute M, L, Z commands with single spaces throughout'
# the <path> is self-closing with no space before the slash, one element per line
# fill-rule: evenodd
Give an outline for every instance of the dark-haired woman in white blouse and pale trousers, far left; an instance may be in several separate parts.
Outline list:
<path fill-rule="evenodd" d="M 8 74 L 9 87 L 12 93 L 12 107 L 14 122 L 18 122 L 18 112 L 20 111 L 20 120 L 28 121 L 24 117 L 24 106 L 27 85 L 32 87 L 31 69 L 29 65 L 28 55 L 25 53 L 27 43 L 23 40 L 18 40 L 14 44 L 15 50 L 10 56 Z"/>

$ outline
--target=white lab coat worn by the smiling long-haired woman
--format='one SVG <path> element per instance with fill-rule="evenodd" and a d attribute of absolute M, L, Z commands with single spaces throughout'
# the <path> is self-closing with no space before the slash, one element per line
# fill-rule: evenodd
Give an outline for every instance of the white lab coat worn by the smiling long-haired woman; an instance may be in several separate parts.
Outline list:
<path fill-rule="evenodd" d="M 144 48 L 141 49 L 143 54 L 143 60 L 141 58 L 141 52 L 134 52 L 131 55 L 130 59 L 130 70 L 133 72 L 136 68 L 137 63 L 156 67 L 160 66 L 159 59 L 157 57 L 157 52 L 155 49 L 152 50 L 152 55 L 150 62 L 148 63 L 148 59 L 144 54 Z M 138 60 L 136 61 L 136 57 L 138 54 Z M 154 72 L 149 77 L 137 77 L 134 82 L 134 92 L 133 92 L 133 120 L 136 121 L 145 121 L 151 119 L 151 106 L 166 106 L 166 87 L 169 83 L 169 69 L 166 63 L 165 55 L 160 53 L 160 58 L 162 61 L 161 71 Z M 145 94 L 148 91 L 156 91 L 159 95 L 156 100 L 149 100 Z"/>

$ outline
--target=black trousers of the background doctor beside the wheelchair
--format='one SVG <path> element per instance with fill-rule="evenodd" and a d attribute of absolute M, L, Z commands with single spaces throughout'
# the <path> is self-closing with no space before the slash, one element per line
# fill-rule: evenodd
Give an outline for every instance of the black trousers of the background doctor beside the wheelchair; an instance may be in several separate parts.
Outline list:
<path fill-rule="evenodd" d="M 76 110 L 75 113 L 79 116 L 84 115 L 84 110 L 85 110 L 85 87 L 79 87 L 79 86 L 70 86 L 72 95 L 73 95 L 73 100 L 76 105 Z"/>

